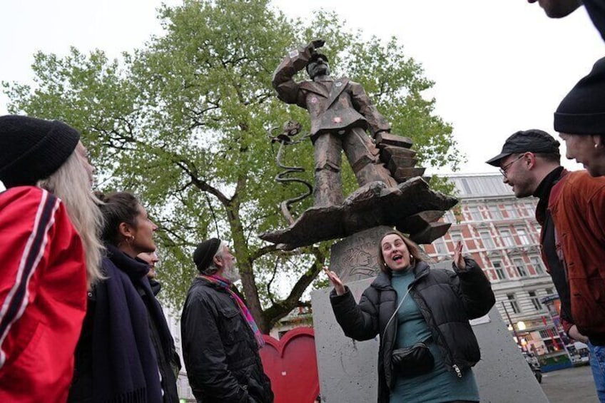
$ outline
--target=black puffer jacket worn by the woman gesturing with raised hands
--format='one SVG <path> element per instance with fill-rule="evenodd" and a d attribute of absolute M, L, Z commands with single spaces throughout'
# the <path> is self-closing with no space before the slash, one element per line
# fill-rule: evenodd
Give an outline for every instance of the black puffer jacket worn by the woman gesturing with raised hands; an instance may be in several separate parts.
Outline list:
<path fill-rule="evenodd" d="M 472 259 L 464 260 L 467 267 L 464 270 L 454 267 L 455 272 L 431 270 L 427 263 L 418 262 L 414 268 L 415 280 L 410 285 L 410 296 L 420 307 L 445 364 L 457 374 L 474 366 L 481 357 L 469 320 L 486 315 L 495 303 L 494 292 L 481 268 Z M 396 376 L 391 357 L 397 339 L 397 315 L 386 327 L 397 308 L 391 276 L 380 272 L 363 292 L 359 304 L 348 289 L 343 295 L 332 290 L 330 302 L 347 337 L 370 340 L 380 335 L 378 402 L 388 402 Z"/>

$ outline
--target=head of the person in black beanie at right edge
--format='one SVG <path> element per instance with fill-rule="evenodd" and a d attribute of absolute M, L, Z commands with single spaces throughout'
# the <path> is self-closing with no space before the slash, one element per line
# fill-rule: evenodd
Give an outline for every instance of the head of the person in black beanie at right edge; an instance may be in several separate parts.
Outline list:
<path fill-rule="evenodd" d="M 583 164 L 592 176 L 605 175 L 605 58 L 559 103 L 554 130 L 565 141 L 567 158 Z"/>

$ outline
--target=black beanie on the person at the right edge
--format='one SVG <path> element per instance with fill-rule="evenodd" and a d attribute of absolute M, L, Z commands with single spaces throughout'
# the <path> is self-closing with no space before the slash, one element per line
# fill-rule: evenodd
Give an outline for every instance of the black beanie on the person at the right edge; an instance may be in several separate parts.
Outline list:
<path fill-rule="evenodd" d="M 559 103 L 554 130 L 567 134 L 605 134 L 605 58 L 600 58 Z"/>

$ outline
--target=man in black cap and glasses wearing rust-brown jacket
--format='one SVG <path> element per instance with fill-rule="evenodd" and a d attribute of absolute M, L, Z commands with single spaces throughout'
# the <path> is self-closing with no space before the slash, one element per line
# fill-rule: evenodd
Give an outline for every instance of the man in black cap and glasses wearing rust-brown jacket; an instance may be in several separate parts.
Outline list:
<path fill-rule="evenodd" d="M 487 161 L 500 168 L 517 198 L 539 198 L 542 260 L 561 299 L 561 325 L 588 343 L 591 369 L 605 402 L 605 178 L 560 163 L 559 141 L 544 131 L 518 131 Z"/>

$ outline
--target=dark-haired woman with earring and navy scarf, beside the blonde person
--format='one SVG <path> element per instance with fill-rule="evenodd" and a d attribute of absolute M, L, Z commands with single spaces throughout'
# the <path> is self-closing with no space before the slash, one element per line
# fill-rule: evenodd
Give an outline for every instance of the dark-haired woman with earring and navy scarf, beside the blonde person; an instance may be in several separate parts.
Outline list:
<path fill-rule="evenodd" d="M 139 259 L 158 227 L 130 193 L 98 195 L 103 276 L 88 295 L 69 402 L 177 403 L 173 339 Z"/>

